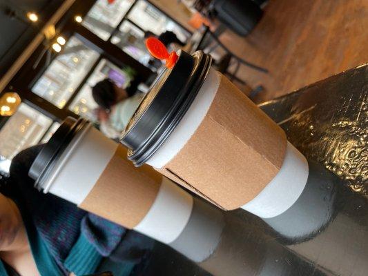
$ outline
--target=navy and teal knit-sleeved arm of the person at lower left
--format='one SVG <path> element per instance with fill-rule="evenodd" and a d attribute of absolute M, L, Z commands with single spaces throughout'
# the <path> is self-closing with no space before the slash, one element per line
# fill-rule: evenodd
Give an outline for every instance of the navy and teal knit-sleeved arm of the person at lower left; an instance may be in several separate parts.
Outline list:
<path fill-rule="evenodd" d="M 92 218 L 64 199 L 34 188 L 28 170 L 43 146 L 19 152 L 12 160 L 10 177 L 48 251 L 64 271 L 76 275 L 95 273 L 104 257 L 117 247 L 125 228 Z M 77 185 L 77 184 L 76 184 Z"/>

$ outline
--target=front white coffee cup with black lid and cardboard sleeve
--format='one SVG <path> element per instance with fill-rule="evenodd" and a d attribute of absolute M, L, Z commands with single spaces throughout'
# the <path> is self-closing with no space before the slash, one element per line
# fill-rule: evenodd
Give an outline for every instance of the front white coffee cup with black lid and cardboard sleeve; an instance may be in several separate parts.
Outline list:
<path fill-rule="evenodd" d="M 284 131 L 202 51 L 178 52 L 122 135 L 135 166 L 148 164 L 224 210 L 276 217 L 300 197 L 308 163 Z"/>

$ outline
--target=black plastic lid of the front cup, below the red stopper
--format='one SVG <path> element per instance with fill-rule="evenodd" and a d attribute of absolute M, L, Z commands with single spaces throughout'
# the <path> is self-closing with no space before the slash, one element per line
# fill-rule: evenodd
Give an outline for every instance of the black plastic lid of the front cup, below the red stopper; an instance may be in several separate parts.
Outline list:
<path fill-rule="evenodd" d="M 157 77 L 121 139 L 135 166 L 144 164 L 179 124 L 206 79 L 211 61 L 202 51 L 193 55 L 181 51 L 175 66 Z"/>

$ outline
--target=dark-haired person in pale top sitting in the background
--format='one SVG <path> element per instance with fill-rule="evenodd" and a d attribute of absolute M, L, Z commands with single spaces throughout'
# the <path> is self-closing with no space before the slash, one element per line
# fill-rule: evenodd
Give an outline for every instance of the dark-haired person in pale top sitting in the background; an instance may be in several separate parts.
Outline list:
<path fill-rule="evenodd" d="M 120 88 L 110 79 L 104 79 L 92 88 L 92 96 L 99 106 L 97 118 L 100 130 L 114 139 L 126 128 L 144 94 Z"/>

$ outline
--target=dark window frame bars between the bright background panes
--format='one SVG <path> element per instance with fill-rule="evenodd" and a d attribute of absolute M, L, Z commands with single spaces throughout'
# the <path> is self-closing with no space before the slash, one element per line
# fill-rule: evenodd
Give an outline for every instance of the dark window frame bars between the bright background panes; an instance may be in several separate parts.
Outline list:
<path fill-rule="evenodd" d="M 81 24 L 75 22 L 74 17 L 75 14 L 81 15 L 81 17 L 85 17 L 86 14 L 88 14 L 89 10 L 93 8 L 93 5 L 96 3 L 96 0 L 77 0 L 72 5 L 70 10 L 64 15 L 63 19 L 57 24 L 57 34 L 61 34 L 66 40 L 70 39 L 72 35 L 75 35 L 78 39 L 84 42 L 86 46 L 89 48 L 92 48 L 93 50 L 99 52 L 99 58 L 93 66 L 90 68 L 84 79 L 79 83 L 79 86 L 75 89 L 72 96 L 63 108 L 58 108 L 54 104 L 50 103 L 46 99 L 43 99 L 42 97 L 39 97 L 35 93 L 32 92 L 31 88 L 35 85 L 36 81 L 43 75 L 43 73 L 47 70 L 48 65 L 52 60 L 54 60 L 57 57 L 57 54 L 51 53 L 50 56 L 47 57 L 45 54 L 46 52 L 46 46 L 40 45 L 35 52 L 32 53 L 28 61 L 23 65 L 21 70 L 15 75 L 15 77 L 10 81 L 10 84 L 8 85 L 7 89 L 5 91 L 15 91 L 19 94 L 22 101 L 24 103 L 27 103 L 28 105 L 32 106 L 32 108 L 35 108 L 39 112 L 43 113 L 43 115 L 46 115 L 50 117 L 53 121 L 61 122 L 66 117 L 71 116 L 78 118 L 78 115 L 75 115 L 74 112 L 69 110 L 70 104 L 72 101 L 77 97 L 79 94 L 81 88 L 84 86 L 84 83 L 86 83 L 87 79 L 90 77 L 90 75 L 93 74 L 96 66 L 98 65 L 99 61 L 101 59 L 107 59 L 111 63 L 115 64 L 115 66 L 118 66 L 121 68 L 122 66 L 129 66 L 133 68 L 137 72 L 137 79 L 139 81 L 145 82 L 148 79 L 153 79 L 153 76 L 155 76 L 155 72 L 151 70 L 151 68 L 148 68 L 144 66 L 142 63 L 134 59 L 133 57 L 130 57 L 124 50 L 120 49 L 118 46 L 115 46 L 113 43 L 111 43 L 111 39 L 114 37 L 117 32 L 119 32 L 119 28 L 122 26 L 124 21 L 128 21 L 129 23 L 133 24 L 133 26 L 139 28 L 139 30 L 143 30 L 140 26 L 137 26 L 136 23 L 128 19 L 129 13 L 135 8 L 136 4 L 139 0 L 135 0 L 130 8 L 126 11 L 124 14 L 124 17 L 119 22 L 119 24 L 116 26 L 115 30 L 110 34 L 110 37 L 107 41 L 104 41 L 104 39 L 99 38 L 96 34 L 88 30 L 86 27 L 82 26 Z M 159 12 L 162 12 L 164 16 L 168 17 L 168 19 L 171 19 L 174 21 L 178 26 L 183 28 L 188 34 L 191 34 L 191 31 L 182 26 L 179 22 L 177 22 L 173 17 L 168 15 L 166 12 L 161 10 L 159 7 L 157 7 L 152 1 L 144 0 L 147 3 L 149 3 L 153 8 L 159 10 Z M 41 58 L 40 58 L 41 57 Z M 2 92 L 0 93 L 0 95 Z M 8 121 L 7 117 L 0 117 L 0 130 L 3 127 L 3 125 L 6 124 L 6 121 Z"/>

